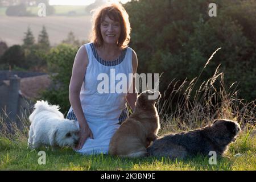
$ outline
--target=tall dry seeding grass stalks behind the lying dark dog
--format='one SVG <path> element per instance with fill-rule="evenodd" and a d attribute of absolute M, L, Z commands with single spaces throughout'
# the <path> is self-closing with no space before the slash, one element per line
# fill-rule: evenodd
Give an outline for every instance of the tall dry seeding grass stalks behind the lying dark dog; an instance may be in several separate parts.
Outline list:
<path fill-rule="evenodd" d="M 212 77 L 197 84 L 201 73 L 219 49 L 210 56 L 198 77 L 192 81 L 174 79 L 170 82 L 157 104 L 162 134 L 204 127 L 218 118 L 232 119 L 246 131 L 253 131 L 256 100 L 248 102 L 238 98 L 237 83 L 225 85 L 224 73 L 219 72 L 221 65 Z"/>

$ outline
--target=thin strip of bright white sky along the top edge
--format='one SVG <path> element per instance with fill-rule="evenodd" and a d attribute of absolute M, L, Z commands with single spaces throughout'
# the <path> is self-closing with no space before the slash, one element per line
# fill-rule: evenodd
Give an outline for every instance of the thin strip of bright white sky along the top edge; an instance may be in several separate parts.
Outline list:
<path fill-rule="evenodd" d="M 108 2 L 118 2 L 118 0 L 107 0 Z M 121 3 L 126 3 L 130 0 L 119 0 Z M 77 5 L 86 6 L 95 2 L 95 0 L 49 0 L 49 5 Z"/>

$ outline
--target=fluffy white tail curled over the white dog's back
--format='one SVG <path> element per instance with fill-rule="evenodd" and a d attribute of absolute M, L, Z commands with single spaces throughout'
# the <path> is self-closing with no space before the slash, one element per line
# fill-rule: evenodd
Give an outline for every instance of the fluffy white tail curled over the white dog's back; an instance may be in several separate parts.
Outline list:
<path fill-rule="evenodd" d="M 36 101 L 36 104 L 34 105 L 34 109 L 35 110 L 33 111 L 32 114 L 30 114 L 30 117 L 29 117 L 31 122 L 34 121 L 35 115 L 42 111 L 50 111 L 50 112 L 59 114 L 61 118 L 64 118 L 63 114 L 60 113 L 59 111 L 60 107 L 57 105 L 49 105 L 47 101 L 43 101 L 43 100 Z"/>

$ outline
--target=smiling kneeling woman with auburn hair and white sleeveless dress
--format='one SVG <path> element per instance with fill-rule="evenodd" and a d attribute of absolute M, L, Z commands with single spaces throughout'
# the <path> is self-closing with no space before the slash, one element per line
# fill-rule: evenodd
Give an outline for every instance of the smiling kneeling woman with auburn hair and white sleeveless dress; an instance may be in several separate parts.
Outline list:
<path fill-rule="evenodd" d="M 126 78 L 137 71 L 137 55 L 127 47 L 130 41 L 130 23 L 128 15 L 119 4 L 102 7 L 94 15 L 92 43 L 80 47 L 75 57 L 69 101 L 71 108 L 67 118 L 76 119 L 80 127 L 80 142 L 75 148 L 82 154 L 108 154 L 109 142 L 127 118 L 126 101 L 131 109 L 135 107 L 137 91 L 134 88 L 127 93 L 99 93 L 98 80 L 101 73 L 110 77 L 110 72 L 123 73 Z M 112 70 L 111 70 L 112 69 Z M 114 81 L 117 84 L 115 78 Z M 127 83 L 129 81 L 127 80 Z M 114 85 L 114 86 L 115 86 Z"/>

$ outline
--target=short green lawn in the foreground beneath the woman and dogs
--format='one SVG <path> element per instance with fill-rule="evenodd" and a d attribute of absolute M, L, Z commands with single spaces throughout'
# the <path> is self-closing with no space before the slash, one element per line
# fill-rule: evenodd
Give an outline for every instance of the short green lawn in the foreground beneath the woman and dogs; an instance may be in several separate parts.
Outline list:
<path fill-rule="evenodd" d="M 186 160 L 168 158 L 123 159 L 109 155 L 81 155 L 70 148 L 51 151 L 47 148 L 46 164 L 39 165 L 38 152 L 28 150 L 26 140 L 20 142 L 0 138 L 0 170 L 256 170 L 256 138 L 242 133 L 230 145 L 216 165 L 208 163 L 209 156 L 195 156 Z M 246 140 L 246 142 L 245 142 Z M 236 154 L 242 156 L 234 156 Z"/>

